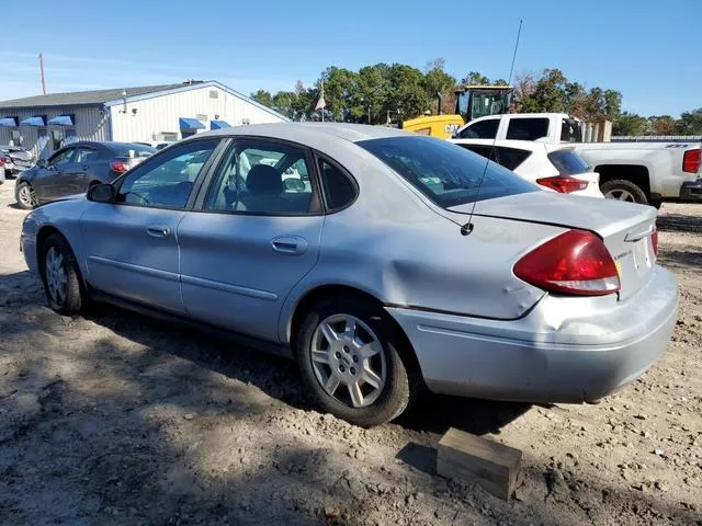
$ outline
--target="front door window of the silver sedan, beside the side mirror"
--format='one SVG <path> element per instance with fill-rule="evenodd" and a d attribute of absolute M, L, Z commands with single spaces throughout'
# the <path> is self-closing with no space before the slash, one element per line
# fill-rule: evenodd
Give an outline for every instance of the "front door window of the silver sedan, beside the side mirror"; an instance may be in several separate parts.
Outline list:
<path fill-rule="evenodd" d="M 193 140 L 147 160 L 122 180 L 116 202 L 158 208 L 184 208 L 197 175 L 219 139 Z"/>

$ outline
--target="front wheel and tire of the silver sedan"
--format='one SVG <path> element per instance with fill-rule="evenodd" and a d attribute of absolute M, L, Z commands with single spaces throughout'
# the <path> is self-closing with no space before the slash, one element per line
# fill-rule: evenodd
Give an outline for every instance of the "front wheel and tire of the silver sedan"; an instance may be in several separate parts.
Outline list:
<path fill-rule="evenodd" d="M 88 304 L 73 251 L 60 233 L 53 233 L 42 248 L 39 260 L 44 291 L 52 309 L 73 316 Z"/>

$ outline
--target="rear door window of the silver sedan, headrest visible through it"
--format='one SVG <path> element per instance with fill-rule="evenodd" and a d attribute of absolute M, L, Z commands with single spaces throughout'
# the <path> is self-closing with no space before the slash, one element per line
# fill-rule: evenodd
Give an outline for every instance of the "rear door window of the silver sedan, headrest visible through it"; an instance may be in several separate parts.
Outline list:
<path fill-rule="evenodd" d="M 302 215 L 319 208 L 307 151 L 263 140 L 239 140 L 225 156 L 205 209 L 254 215 Z"/>

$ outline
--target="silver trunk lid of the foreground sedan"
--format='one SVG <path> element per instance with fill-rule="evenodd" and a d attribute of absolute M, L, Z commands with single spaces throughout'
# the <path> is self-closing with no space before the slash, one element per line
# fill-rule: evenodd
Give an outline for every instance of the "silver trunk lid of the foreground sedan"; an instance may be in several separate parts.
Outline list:
<path fill-rule="evenodd" d="M 450 211 L 465 216 L 471 213 L 472 206 L 461 205 L 450 208 Z M 650 206 L 532 192 L 482 201 L 477 204 L 475 214 L 597 233 L 616 264 L 622 285 L 621 299 L 636 294 L 652 278 L 656 261 L 652 236 L 657 211 Z"/>

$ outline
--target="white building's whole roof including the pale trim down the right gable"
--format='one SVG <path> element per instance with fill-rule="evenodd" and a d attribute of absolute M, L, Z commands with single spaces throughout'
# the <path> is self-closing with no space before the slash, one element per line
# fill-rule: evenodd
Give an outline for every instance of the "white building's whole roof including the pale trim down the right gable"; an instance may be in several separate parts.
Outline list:
<path fill-rule="evenodd" d="M 283 121 L 290 121 L 285 115 L 272 110 L 253 99 L 239 93 L 231 88 L 228 88 L 216 80 L 190 80 L 181 82 L 180 84 L 160 84 L 160 85 L 143 85 L 139 88 L 116 88 L 112 90 L 93 90 L 93 91 L 72 91 L 69 93 L 49 93 L 46 95 L 25 96 L 23 99 L 13 99 L 10 101 L 0 102 L 0 111 L 8 111 L 12 108 L 30 108 L 30 107 L 50 107 L 50 106 L 79 106 L 91 104 L 104 104 L 105 106 L 114 106 L 125 102 L 136 102 L 144 99 L 151 99 L 155 96 L 169 95 L 172 93 L 179 93 L 181 91 L 195 90 L 200 88 L 217 87 L 223 91 L 226 91 L 230 95 L 237 96 L 247 101 L 271 115 Z"/>

